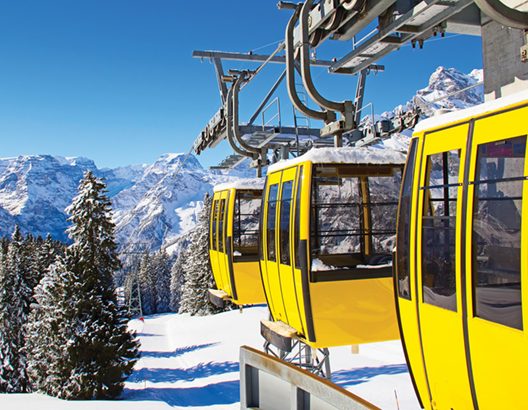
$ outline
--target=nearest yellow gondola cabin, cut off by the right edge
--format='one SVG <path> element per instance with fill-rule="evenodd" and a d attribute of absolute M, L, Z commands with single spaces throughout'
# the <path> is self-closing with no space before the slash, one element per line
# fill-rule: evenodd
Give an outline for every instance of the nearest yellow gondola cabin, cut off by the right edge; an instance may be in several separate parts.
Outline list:
<path fill-rule="evenodd" d="M 395 287 L 426 409 L 527 407 L 527 133 L 526 91 L 415 129 Z"/>

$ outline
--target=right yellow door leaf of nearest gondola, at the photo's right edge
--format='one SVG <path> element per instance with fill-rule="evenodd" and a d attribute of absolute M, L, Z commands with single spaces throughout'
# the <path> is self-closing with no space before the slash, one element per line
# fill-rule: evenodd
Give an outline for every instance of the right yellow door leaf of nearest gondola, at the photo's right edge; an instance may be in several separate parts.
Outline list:
<path fill-rule="evenodd" d="M 465 238 L 469 351 L 481 409 L 527 406 L 526 118 L 528 107 L 478 119 L 473 133 Z"/>

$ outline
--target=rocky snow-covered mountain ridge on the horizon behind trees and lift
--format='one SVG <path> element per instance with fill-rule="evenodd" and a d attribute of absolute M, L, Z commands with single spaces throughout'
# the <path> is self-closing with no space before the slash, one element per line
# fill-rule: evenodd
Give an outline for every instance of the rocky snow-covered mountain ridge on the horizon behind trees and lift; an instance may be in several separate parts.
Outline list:
<path fill-rule="evenodd" d="M 425 117 L 440 110 L 466 108 L 483 101 L 483 90 L 478 86 L 481 81 L 482 70 L 464 74 L 438 67 L 428 85 L 406 105 L 418 101 Z M 407 135 L 397 134 L 385 141 L 384 147 L 404 150 L 407 142 Z M 206 170 L 194 155 L 184 153 L 167 153 L 152 164 L 115 169 L 98 168 L 93 160 L 83 156 L 0 158 L 0 236 L 11 235 L 18 224 L 23 232 L 41 236 L 50 233 L 67 241 L 64 209 L 88 170 L 106 180 L 116 237 L 125 251 L 134 244 L 143 244 L 150 250 L 173 244 L 177 248 L 178 238 L 194 226 L 203 196 L 216 184 L 249 174 L 245 169 Z"/>

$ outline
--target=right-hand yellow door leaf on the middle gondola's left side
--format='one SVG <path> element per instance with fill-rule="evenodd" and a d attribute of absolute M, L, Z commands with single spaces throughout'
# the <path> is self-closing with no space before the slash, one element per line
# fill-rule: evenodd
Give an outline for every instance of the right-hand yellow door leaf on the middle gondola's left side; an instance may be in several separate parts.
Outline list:
<path fill-rule="evenodd" d="M 286 320 L 291 327 L 301 331 L 301 314 L 297 300 L 297 289 L 294 280 L 293 233 L 294 229 L 294 187 L 297 176 L 297 167 L 288 168 L 282 172 L 280 187 L 279 218 L 277 220 L 277 248 L 279 281 L 282 288 L 283 303 Z M 304 333 L 302 331 L 301 333 Z"/>

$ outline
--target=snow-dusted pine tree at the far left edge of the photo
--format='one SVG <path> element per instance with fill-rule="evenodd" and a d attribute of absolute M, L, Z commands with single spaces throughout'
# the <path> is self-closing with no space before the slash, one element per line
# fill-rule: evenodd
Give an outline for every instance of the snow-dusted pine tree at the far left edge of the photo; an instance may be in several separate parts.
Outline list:
<path fill-rule="evenodd" d="M 26 323 L 32 289 L 18 226 L 0 263 L 0 392 L 29 391 L 26 372 Z"/>

